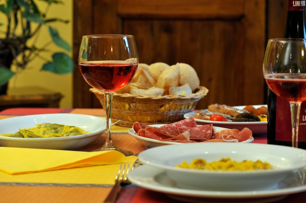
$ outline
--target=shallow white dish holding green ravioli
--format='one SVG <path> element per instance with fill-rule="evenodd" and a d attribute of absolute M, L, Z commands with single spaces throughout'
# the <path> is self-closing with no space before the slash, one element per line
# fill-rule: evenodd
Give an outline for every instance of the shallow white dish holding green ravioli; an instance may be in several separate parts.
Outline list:
<path fill-rule="evenodd" d="M 106 130 L 106 120 L 98 116 L 72 113 L 38 114 L 17 116 L 0 120 L 0 134 L 18 132 L 18 129 L 30 128 L 40 123 L 57 123 L 82 128 L 91 133 L 70 137 L 18 138 L 0 136 L 0 146 L 40 149 L 69 150 L 83 147 L 97 140 Z"/>

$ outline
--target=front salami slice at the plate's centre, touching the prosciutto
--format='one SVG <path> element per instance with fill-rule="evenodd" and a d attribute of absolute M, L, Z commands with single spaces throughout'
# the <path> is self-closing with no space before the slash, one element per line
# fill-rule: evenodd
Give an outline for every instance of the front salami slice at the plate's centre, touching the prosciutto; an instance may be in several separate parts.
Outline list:
<path fill-rule="evenodd" d="M 214 129 L 212 124 L 207 124 L 203 126 L 196 127 L 180 127 L 178 128 L 180 133 L 188 131 L 190 133 L 190 140 L 200 140 L 205 141 L 211 139 L 214 134 Z"/>

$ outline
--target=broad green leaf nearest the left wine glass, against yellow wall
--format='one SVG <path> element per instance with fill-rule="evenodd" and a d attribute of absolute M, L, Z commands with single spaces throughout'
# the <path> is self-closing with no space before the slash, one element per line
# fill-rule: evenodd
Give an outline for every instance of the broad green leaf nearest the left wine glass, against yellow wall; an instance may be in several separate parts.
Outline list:
<path fill-rule="evenodd" d="M 57 74 L 73 73 L 73 60 L 63 52 L 57 52 L 52 55 L 52 62 L 43 65 L 42 70 L 50 71 Z"/>

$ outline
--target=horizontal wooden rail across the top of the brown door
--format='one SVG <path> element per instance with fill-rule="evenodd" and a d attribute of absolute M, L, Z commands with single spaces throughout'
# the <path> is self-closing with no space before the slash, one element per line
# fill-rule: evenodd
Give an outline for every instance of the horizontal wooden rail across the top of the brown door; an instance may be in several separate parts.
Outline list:
<path fill-rule="evenodd" d="M 122 17 L 150 18 L 239 18 L 244 0 L 118 0 Z"/>

